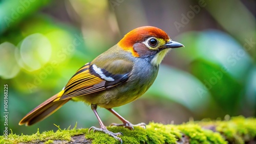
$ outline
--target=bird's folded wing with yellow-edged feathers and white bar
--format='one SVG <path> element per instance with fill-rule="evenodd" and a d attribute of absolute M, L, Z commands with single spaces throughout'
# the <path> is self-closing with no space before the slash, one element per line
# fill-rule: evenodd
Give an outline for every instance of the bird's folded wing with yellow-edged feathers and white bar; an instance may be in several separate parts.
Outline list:
<path fill-rule="evenodd" d="M 69 80 L 59 100 L 98 92 L 125 82 L 129 78 L 132 66 L 132 62 L 124 60 L 105 63 L 105 66 L 101 67 L 95 63 L 87 63 L 77 70 L 76 74 Z M 109 72 L 113 69 L 118 71 L 118 74 Z"/>

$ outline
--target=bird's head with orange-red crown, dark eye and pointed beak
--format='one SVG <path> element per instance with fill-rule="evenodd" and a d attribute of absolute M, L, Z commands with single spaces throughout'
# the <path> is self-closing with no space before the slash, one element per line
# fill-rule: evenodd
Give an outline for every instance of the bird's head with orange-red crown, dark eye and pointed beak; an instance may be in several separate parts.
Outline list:
<path fill-rule="evenodd" d="M 170 49 L 184 46 L 172 41 L 163 30 L 151 26 L 130 31 L 118 45 L 134 57 L 148 59 L 154 65 L 159 65 Z"/>

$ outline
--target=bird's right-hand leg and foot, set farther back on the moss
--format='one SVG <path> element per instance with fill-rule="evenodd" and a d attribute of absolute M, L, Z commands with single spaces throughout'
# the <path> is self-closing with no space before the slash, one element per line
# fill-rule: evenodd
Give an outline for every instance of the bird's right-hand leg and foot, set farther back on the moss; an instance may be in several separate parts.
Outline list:
<path fill-rule="evenodd" d="M 132 123 L 130 123 L 129 121 L 127 121 L 126 119 L 124 119 L 120 114 L 118 114 L 115 110 L 113 110 L 112 108 L 107 109 L 109 110 L 111 113 L 113 113 L 117 118 L 119 118 L 123 124 L 115 124 L 112 123 L 111 126 L 123 126 L 125 128 L 128 128 L 130 130 L 134 130 L 134 126 L 140 126 L 142 128 L 146 128 L 146 124 L 145 123 L 139 123 L 137 125 L 133 125 Z"/>

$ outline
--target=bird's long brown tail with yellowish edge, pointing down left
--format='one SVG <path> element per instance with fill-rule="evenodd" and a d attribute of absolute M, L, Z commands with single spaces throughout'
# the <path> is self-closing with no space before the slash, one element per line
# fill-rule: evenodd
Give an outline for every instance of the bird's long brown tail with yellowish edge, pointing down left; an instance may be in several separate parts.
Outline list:
<path fill-rule="evenodd" d="M 19 125 L 26 124 L 26 126 L 30 126 L 50 116 L 62 105 L 71 100 L 59 100 L 63 92 L 63 90 L 60 91 L 59 93 L 53 95 L 50 99 L 46 100 L 44 103 L 41 103 L 39 106 L 31 110 L 26 116 L 22 118 L 22 120 L 20 120 Z"/>

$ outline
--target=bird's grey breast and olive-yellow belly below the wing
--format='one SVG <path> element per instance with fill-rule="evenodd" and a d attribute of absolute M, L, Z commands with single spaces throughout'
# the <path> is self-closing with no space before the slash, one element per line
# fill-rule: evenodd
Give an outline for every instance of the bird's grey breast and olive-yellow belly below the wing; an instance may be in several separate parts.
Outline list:
<path fill-rule="evenodd" d="M 109 101 L 103 107 L 118 107 L 135 101 L 150 88 L 157 74 L 158 66 L 154 66 L 147 61 L 135 62 L 129 79 L 106 92 L 105 95 L 108 96 L 105 96 L 105 98 Z"/>

